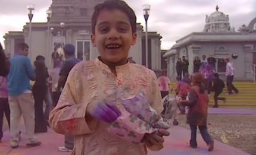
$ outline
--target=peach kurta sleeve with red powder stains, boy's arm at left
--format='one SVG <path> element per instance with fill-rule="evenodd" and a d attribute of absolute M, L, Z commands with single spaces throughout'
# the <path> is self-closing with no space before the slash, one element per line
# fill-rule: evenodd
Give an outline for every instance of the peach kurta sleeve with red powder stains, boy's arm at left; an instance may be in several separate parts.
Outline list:
<path fill-rule="evenodd" d="M 83 100 L 85 94 L 80 73 L 77 66 L 70 71 L 58 104 L 50 113 L 49 123 L 57 133 L 83 135 L 93 132 L 85 119 L 88 103 Z"/>

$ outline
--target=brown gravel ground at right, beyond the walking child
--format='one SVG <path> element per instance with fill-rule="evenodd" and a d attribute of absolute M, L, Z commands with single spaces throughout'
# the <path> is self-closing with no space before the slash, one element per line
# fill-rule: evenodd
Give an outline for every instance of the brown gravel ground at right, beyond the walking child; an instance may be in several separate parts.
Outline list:
<path fill-rule="evenodd" d="M 186 115 L 179 115 L 178 119 L 179 125 L 189 128 Z M 207 121 L 215 140 L 256 155 L 256 115 L 208 114 Z"/>

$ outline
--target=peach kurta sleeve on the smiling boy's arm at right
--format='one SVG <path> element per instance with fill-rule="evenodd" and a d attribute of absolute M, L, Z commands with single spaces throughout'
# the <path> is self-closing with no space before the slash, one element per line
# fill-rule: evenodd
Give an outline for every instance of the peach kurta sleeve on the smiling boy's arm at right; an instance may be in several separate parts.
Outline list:
<path fill-rule="evenodd" d="M 152 103 L 151 106 L 157 113 L 161 113 L 164 109 L 161 92 L 157 81 L 157 76 L 153 71 L 150 72 L 152 77 Z"/>

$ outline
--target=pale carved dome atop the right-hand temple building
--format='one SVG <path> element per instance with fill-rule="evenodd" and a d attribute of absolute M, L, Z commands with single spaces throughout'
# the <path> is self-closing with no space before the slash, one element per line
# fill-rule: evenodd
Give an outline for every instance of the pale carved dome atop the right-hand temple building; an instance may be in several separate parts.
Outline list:
<path fill-rule="evenodd" d="M 229 32 L 234 31 L 230 29 L 229 15 L 218 11 L 218 5 L 216 11 L 211 15 L 205 17 L 204 32 Z"/>

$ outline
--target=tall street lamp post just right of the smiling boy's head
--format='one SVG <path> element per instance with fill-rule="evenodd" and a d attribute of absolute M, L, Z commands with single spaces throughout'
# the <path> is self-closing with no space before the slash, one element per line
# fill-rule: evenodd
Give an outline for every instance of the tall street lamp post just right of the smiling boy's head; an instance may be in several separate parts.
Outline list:
<path fill-rule="evenodd" d="M 148 67 L 148 17 L 149 17 L 149 12 L 150 12 L 150 5 L 149 4 L 144 4 L 142 6 L 143 8 L 143 15 L 145 18 L 145 27 L 146 27 L 146 33 L 145 33 L 145 46 L 146 46 L 146 67 Z"/>

